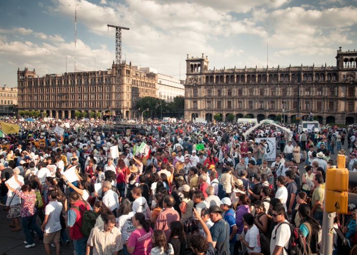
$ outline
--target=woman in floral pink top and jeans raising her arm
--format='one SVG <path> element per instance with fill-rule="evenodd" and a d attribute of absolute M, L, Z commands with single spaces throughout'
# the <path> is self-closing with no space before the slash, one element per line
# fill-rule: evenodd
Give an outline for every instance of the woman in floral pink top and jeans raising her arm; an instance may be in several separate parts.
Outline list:
<path fill-rule="evenodd" d="M 20 185 L 15 175 L 15 181 Z M 6 184 L 9 190 L 15 192 L 21 198 L 22 208 L 21 208 L 21 219 L 22 219 L 22 230 L 25 234 L 25 248 L 35 247 L 35 242 L 31 233 L 32 230 L 32 221 L 36 212 L 35 203 L 36 195 L 28 185 L 22 185 L 21 190 L 13 189 Z"/>

